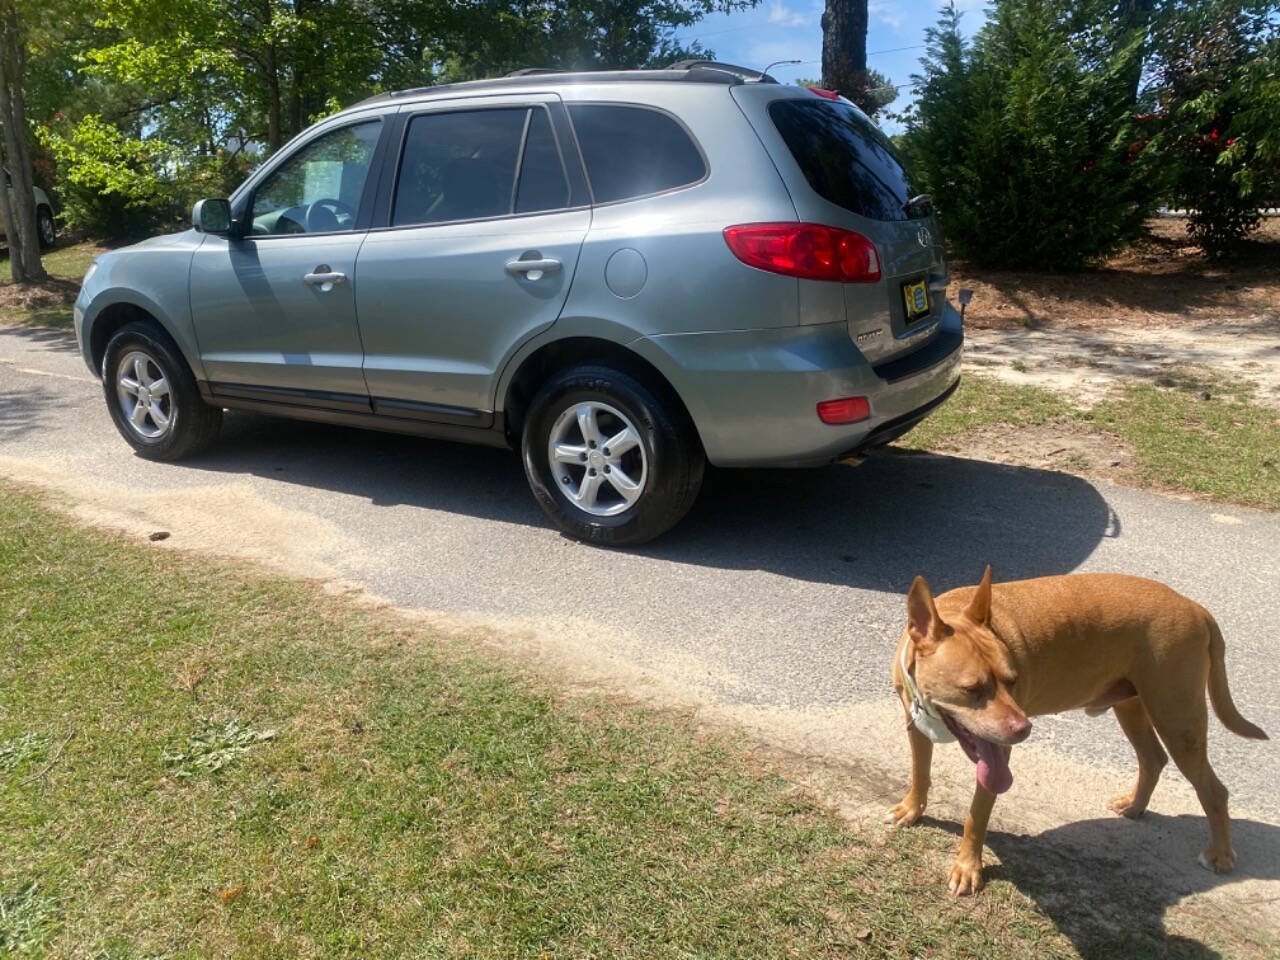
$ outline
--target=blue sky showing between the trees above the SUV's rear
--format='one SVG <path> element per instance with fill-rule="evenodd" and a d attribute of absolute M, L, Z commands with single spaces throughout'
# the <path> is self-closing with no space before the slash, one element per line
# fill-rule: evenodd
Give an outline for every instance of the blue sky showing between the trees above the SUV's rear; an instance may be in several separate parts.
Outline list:
<path fill-rule="evenodd" d="M 895 84 L 909 83 L 924 52 L 924 28 L 933 26 L 943 0 L 868 0 L 867 65 L 887 74 Z M 964 12 L 961 26 L 973 35 L 986 17 L 984 0 L 956 0 Z M 783 83 L 797 77 L 822 76 L 823 0 L 760 0 L 753 10 L 714 14 L 687 29 L 682 40 L 700 40 L 726 63 L 760 69 L 773 60 L 804 60 L 796 67 L 776 67 L 769 73 Z M 906 47 L 906 49 L 904 49 Z M 910 102 L 911 91 L 900 90 L 890 108 Z M 886 124 L 896 132 L 893 124 Z"/>

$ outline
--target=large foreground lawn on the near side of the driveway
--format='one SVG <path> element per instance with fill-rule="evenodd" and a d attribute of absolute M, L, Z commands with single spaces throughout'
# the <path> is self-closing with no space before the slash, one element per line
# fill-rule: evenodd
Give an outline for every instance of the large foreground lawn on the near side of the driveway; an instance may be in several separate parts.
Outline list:
<path fill-rule="evenodd" d="M 0 494 L 0 956 L 1075 956 L 737 741 Z"/>

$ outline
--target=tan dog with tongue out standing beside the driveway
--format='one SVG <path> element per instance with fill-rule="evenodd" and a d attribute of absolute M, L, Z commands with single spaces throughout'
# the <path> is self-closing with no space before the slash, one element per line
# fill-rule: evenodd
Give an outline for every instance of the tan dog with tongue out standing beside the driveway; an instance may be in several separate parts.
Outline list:
<path fill-rule="evenodd" d="M 1206 754 L 1206 685 L 1228 730 L 1267 739 L 1231 703 L 1217 623 L 1164 584 L 1076 573 L 993 588 L 987 567 L 977 588 L 950 590 L 934 602 L 924 577 L 916 577 L 893 658 L 893 687 L 908 710 L 911 787 L 886 822 L 920 818 L 933 742 L 959 740 L 978 764 L 978 788 L 947 886 L 973 893 L 982 886 L 991 808 L 1012 783 L 1009 749 L 1030 735 L 1027 718 L 1112 709 L 1138 754 L 1138 782 L 1112 799 L 1111 809 L 1124 817 L 1147 809 L 1167 749 L 1208 817 L 1212 844 L 1201 864 L 1230 870 L 1235 851 L 1226 787 Z"/>

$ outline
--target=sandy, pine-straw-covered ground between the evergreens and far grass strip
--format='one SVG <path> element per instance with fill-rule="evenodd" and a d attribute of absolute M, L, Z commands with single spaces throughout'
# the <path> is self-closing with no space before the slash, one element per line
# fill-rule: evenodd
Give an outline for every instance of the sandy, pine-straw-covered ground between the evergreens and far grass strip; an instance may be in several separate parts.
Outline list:
<path fill-rule="evenodd" d="M 1178 219 L 1105 265 L 1078 274 L 952 264 L 969 370 L 1060 392 L 1092 406 L 1116 385 L 1190 369 L 1252 384 L 1280 410 L 1280 218 L 1226 262 L 1206 260 Z"/>

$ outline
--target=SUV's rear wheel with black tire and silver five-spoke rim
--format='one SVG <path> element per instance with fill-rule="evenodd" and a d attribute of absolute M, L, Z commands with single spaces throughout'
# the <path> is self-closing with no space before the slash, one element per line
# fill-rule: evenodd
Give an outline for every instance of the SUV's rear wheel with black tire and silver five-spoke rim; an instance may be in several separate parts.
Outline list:
<path fill-rule="evenodd" d="M 635 547 L 675 526 L 698 497 L 705 456 L 680 406 L 608 366 L 548 380 L 521 453 L 543 512 L 566 534 Z"/>

